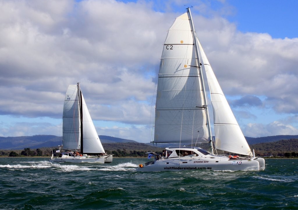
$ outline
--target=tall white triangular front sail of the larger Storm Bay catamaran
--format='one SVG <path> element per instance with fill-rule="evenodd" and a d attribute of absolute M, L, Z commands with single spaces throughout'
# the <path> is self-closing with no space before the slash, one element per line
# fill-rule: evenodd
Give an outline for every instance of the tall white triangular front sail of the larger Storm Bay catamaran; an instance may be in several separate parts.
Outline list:
<path fill-rule="evenodd" d="M 243 136 L 237 120 L 235 119 L 226 97 L 221 90 L 199 41 L 198 45 L 211 95 L 215 131 L 215 148 L 231 153 L 251 156 L 251 149 Z"/>

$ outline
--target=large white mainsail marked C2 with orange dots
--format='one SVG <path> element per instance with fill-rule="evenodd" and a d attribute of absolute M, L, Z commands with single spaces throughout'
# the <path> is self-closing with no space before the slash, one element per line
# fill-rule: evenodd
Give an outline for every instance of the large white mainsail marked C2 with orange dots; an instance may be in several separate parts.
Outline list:
<path fill-rule="evenodd" d="M 204 100 L 187 13 L 164 42 L 156 97 L 154 142 L 207 142 Z"/>

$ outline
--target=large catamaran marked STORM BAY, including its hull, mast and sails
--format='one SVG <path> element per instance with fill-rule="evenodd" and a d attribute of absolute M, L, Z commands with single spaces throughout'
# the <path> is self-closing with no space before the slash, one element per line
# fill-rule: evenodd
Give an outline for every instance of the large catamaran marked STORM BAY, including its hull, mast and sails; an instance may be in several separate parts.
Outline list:
<path fill-rule="evenodd" d="M 205 78 L 205 79 L 204 79 Z M 215 141 L 204 81 L 208 82 Z M 164 42 L 158 75 L 153 143 L 179 143 L 137 171 L 264 170 L 240 130 L 195 33 L 190 8 L 176 18 Z M 209 149 L 196 145 L 207 143 Z M 186 146 L 185 146 L 186 145 Z M 187 146 L 191 145 L 191 146 Z M 214 145 L 214 147 L 213 147 Z M 221 150 L 222 154 L 218 154 Z"/>

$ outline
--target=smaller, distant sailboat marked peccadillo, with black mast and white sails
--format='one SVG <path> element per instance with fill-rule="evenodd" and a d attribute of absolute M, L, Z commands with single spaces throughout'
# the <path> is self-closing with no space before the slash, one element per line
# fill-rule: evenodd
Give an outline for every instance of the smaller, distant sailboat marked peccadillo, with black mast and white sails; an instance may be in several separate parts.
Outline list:
<path fill-rule="evenodd" d="M 111 163 L 95 130 L 79 83 L 69 85 L 63 107 L 63 147 L 52 153 L 52 163 Z"/>

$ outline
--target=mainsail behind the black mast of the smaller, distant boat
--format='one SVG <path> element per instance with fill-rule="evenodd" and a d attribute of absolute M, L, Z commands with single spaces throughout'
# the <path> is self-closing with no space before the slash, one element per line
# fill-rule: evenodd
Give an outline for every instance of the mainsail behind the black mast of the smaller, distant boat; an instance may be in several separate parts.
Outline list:
<path fill-rule="evenodd" d="M 63 147 L 80 149 L 80 111 L 77 85 L 69 85 L 63 106 Z"/>

